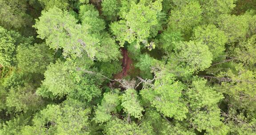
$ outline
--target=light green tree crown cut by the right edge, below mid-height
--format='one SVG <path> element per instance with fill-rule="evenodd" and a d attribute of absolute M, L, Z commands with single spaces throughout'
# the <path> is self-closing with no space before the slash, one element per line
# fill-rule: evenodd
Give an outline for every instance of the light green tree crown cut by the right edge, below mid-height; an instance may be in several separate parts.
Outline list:
<path fill-rule="evenodd" d="M 230 81 L 221 84 L 221 90 L 229 95 L 230 104 L 233 107 L 245 108 L 248 113 L 256 110 L 254 102 L 256 95 L 255 75 L 255 71 L 246 70 L 241 65 L 236 66 L 234 71 L 230 69 L 227 72 L 220 72 L 220 76 L 230 79 Z"/>

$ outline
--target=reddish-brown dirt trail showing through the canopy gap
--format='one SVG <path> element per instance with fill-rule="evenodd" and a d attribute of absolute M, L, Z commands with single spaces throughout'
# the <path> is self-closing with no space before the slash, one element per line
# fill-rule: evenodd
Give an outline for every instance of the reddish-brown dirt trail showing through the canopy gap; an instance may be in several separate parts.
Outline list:
<path fill-rule="evenodd" d="M 128 75 L 128 71 L 132 67 L 132 59 L 128 56 L 128 51 L 125 50 L 124 48 L 121 48 L 121 51 L 123 55 L 123 61 L 122 61 L 123 70 L 120 73 L 114 75 L 115 79 L 122 79 L 123 77 Z"/>

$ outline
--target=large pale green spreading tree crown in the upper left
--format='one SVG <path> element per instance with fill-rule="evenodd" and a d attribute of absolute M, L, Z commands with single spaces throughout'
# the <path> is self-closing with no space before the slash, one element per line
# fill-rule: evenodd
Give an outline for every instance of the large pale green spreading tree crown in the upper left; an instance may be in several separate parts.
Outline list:
<path fill-rule="evenodd" d="M 88 25 L 76 23 L 74 16 L 55 7 L 48 12 L 43 11 L 34 27 L 38 29 L 38 37 L 46 39 L 46 44 L 50 48 L 55 50 L 63 48 L 65 57 L 82 56 L 83 52 L 86 52 L 88 57 L 94 59 L 99 40 L 89 35 Z"/>

